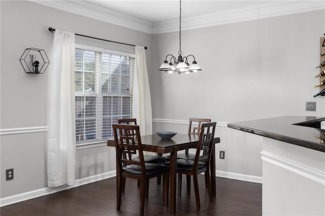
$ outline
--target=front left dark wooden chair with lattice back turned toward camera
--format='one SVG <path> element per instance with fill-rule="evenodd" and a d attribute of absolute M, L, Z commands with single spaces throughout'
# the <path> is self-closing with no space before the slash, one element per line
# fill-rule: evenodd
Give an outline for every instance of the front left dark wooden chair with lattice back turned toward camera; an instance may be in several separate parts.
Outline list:
<path fill-rule="evenodd" d="M 121 208 L 123 178 L 134 178 L 140 181 L 140 215 L 144 215 L 147 183 L 150 178 L 163 175 L 164 203 L 168 204 L 169 167 L 145 163 L 138 125 L 113 124 L 116 149 L 116 209 Z M 134 160 L 133 155 L 139 160 Z M 126 155 L 126 158 L 123 157 Z M 127 205 L 125 206 L 127 207 Z"/>

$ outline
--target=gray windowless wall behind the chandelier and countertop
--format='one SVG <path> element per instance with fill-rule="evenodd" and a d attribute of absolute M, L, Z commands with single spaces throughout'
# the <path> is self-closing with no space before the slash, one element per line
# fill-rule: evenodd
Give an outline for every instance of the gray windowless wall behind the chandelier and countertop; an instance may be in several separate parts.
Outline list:
<path fill-rule="evenodd" d="M 325 33 L 324 11 L 239 22 L 182 31 L 182 51 L 193 54 L 203 71 L 158 71 L 169 53 L 177 55 L 178 32 L 154 35 L 151 85 L 153 119 L 211 118 L 237 122 L 276 116 L 324 116 L 319 91 L 319 38 Z M 166 46 L 168 45 L 168 46 Z M 305 111 L 316 101 L 316 112 Z M 186 132 L 184 124 L 156 120 L 154 131 Z M 262 137 L 218 127 L 220 171 L 262 176 Z"/>

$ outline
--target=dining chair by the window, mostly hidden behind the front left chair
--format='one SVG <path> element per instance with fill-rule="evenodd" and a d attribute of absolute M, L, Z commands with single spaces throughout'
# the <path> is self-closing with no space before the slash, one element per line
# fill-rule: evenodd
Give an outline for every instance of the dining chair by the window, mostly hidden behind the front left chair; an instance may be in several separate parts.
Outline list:
<path fill-rule="evenodd" d="M 118 119 L 118 124 L 127 124 L 127 125 L 137 125 L 137 119 Z M 143 155 L 145 163 L 156 163 L 156 164 L 163 164 L 166 163 L 169 158 L 164 157 L 162 155 Z M 133 156 L 133 160 L 139 160 L 139 156 Z M 161 183 L 161 176 L 157 177 L 157 184 L 160 185 Z M 123 192 L 125 188 L 125 179 L 123 180 Z M 148 194 L 147 194 L 148 197 Z"/>

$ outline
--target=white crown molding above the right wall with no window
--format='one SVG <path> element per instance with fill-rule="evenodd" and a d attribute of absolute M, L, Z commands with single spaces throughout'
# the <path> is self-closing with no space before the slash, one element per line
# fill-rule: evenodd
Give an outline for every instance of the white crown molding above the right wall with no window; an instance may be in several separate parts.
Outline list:
<path fill-rule="evenodd" d="M 257 20 L 310 11 L 325 10 L 325 1 L 277 1 L 255 7 L 227 10 L 218 13 L 182 19 L 182 30 Z M 153 33 L 179 31 L 179 20 L 157 22 Z"/>

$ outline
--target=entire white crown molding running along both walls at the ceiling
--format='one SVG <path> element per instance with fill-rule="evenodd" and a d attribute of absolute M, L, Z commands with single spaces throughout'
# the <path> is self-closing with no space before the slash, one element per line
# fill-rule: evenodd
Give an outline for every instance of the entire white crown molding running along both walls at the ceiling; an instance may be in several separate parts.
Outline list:
<path fill-rule="evenodd" d="M 158 34 L 179 30 L 179 20 L 152 23 L 125 13 L 103 8 L 100 5 L 92 4 L 87 1 L 27 1 L 145 33 Z M 325 1 L 276 1 L 255 5 L 254 7 L 226 10 L 213 14 L 182 19 L 182 30 L 317 10 L 325 10 Z"/>

